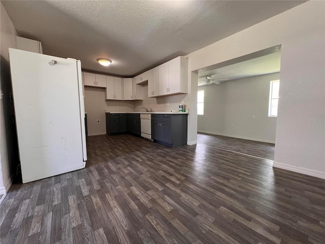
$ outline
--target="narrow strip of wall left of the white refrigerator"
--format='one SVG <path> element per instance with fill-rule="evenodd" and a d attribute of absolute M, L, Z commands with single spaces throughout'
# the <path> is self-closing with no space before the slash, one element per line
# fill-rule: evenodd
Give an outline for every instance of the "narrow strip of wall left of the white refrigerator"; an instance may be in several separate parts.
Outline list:
<path fill-rule="evenodd" d="M 12 120 L 12 102 L 9 101 L 9 92 L 11 90 L 10 70 L 9 70 L 9 51 L 8 48 L 17 48 L 16 29 L 11 22 L 4 6 L 0 6 L 1 15 L 1 82 L 0 87 L 4 93 L 4 100 L 0 100 L 0 194 L 11 186 L 10 161 L 17 152 L 14 150 L 15 134 L 12 133 L 14 126 Z M 7 119 L 7 121 L 6 121 Z M 9 120 L 9 121 L 8 121 Z M 5 189 L 4 189 L 5 188 Z"/>

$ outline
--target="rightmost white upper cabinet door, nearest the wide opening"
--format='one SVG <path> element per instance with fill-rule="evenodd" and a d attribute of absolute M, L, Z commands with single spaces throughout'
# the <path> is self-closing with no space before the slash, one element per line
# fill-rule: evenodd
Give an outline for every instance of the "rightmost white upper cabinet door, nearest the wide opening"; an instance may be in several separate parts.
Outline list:
<path fill-rule="evenodd" d="M 168 93 L 174 94 L 180 92 L 180 57 L 168 62 Z"/>

